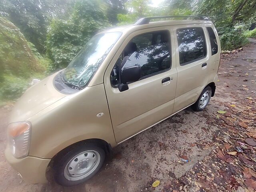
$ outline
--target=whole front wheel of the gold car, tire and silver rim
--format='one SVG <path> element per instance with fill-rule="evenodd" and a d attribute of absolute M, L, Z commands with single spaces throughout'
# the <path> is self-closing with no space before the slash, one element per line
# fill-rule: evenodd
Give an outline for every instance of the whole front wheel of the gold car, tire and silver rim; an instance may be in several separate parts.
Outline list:
<path fill-rule="evenodd" d="M 54 160 L 54 179 L 62 186 L 85 182 L 98 172 L 105 160 L 104 150 L 93 143 L 82 143 Z"/>

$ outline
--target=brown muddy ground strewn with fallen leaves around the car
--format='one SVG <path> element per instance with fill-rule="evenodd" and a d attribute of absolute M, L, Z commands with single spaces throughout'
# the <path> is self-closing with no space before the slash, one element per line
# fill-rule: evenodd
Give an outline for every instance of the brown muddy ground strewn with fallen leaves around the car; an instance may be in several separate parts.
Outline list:
<path fill-rule="evenodd" d="M 215 96 L 204 111 L 187 108 L 120 144 L 100 172 L 75 187 L 22 181 L 4 158 L 12 105 L 4 106 L 0 109 L 0 191 L 252 192 L 256 188 L 256 148 L 246 145 L 244 139 L 256 135 L 255 69 L 256 42 L 222 55 Z M 160 180 L 159 186 L 152 187 L 156 180 Z"/>

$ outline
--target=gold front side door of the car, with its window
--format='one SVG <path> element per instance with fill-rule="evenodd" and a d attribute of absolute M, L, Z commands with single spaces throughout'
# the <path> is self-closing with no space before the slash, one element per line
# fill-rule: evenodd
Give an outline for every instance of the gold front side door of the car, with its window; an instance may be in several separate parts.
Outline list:
<path fill-rule="evenodd" d="M 117 143 L 172 114 L 177 81 L 173 38 L 168 27 L 134 32 L 106 70 L 104 86 Z M 140 66 L 141 77 L 120 92 L 121 71 L 130 66 Z"/>

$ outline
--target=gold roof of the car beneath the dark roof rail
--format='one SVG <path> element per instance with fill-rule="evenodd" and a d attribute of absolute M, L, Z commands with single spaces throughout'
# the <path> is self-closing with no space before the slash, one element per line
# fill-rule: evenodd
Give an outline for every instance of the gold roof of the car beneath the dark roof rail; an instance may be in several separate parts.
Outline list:
<path fill-rule="evenodd" d="M 127 32 L 127 31 L 135 31 L 140 30 L 144 28 L 153 28 L 153 27 L 159 27 L 159 26 L 171 26 L 171 25 L 186 25 L 186 24 L 210 24 L 212 25 L 212 22 L 209 20 L 167 20 L 167 21 L 156 21 L 156 22 L 149 22 L 148 24 L 131 24 L 126 26 L 118 26 L 114 28 L 110 28 L 107 30 L 104 30 L 100 33 L 107 33 L 107 32 Z"/>

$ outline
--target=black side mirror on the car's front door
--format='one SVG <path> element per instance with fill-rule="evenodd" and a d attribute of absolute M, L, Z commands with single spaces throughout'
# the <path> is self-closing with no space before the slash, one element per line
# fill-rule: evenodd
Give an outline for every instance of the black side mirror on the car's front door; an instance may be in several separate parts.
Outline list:
<path fill-rule="evenodd" d="M 120 92 L 128 90 L 127 82 L 134 82 L 140 79 L 140 67 L 139 66 L 131 66 L 124 68 L 121 74 L 121 82 L 122 84 L 118 85 L 118 89 Z"/>

